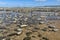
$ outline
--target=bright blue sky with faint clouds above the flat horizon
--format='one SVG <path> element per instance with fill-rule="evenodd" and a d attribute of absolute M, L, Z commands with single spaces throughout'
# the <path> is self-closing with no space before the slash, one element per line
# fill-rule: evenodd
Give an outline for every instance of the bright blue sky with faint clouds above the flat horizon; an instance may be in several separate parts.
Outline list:
<path fill-rule="evenodd" d="M 0 7 L 35 7 L 60 5 L 60 0 L 0 0 Z"/>

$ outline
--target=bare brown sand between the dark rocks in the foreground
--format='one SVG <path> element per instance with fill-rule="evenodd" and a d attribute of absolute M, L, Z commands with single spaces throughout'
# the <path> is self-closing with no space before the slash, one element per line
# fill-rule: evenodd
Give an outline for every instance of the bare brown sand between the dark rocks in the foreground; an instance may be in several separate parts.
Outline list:
<path fill-rule="evenodd" d="M 30 35 L 31 37 L 31 40 L 40 40 L 42 39 L 42 37 L 47 37 L 49 40 L 60 40 L 60 20 L 58 21 L 52 21 L 52 22 L 49 22 L 49 23 L 46 23 L 46 24 L 38 24 L 37 27 L 39 27 L 40 29 L 44 28 L 44 27 L 47 27 L 47 25 L 49 24 L 52 24 L 52 25 L 55 25 L 56 28 L 59 29 L 59 31 L 57 32 L 49 32 L 48 30 L 47 31 L 42 31 L 42 30 L 37 30 L 37 32 L 32 32 L 31 30 L 34 28 L 34 27 L 28 27 L 28 28 L 23 28 L 23 33 L 19 36 L 12 36 L 12 40 L 23 40 L 25 37 L 26 37 L 26 32 L 32 32 L 32 34 Z M 13 24 L 12 24 L 13 26 Z M 38 37 L 38 34 L 41 34 L 42 37 Z M 32 36 L 35 36 L 35 38 L 33 38 Z M 43 40 L 43 39 L 42 39 Z"/>

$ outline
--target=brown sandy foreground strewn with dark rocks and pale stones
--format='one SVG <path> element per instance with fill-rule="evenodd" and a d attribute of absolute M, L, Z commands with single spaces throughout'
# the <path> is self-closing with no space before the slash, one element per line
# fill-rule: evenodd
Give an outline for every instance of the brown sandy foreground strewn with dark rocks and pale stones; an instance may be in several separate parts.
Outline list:
<path fill-rule="evenodd" d="M 59 20 L 50 21 L 43 24 L 31 24 L 30 26 L 27 25 L 24 27 L 17 24 L 11 24 L 8 27 L 8 31 L 5 31 L 5 37 L 3 38 L 3 40 L 60 40 L 59 26 Z M 16 29 L 19 29 L 20 31 L 16 31 Z M 18 32 L 21 33 L 18 34 Z"/>

